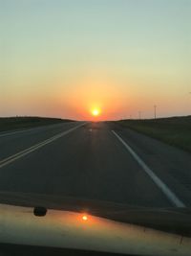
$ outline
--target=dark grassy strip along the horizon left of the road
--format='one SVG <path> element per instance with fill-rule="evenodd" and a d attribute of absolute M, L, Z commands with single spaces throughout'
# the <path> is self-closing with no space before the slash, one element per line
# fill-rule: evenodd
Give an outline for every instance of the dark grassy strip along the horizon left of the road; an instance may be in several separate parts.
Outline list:
<path fill-rule="evenodd" d="M 34 128 L 69 121 L 71 120 L 46 117 L 1 117 L 0 131 Z"/>

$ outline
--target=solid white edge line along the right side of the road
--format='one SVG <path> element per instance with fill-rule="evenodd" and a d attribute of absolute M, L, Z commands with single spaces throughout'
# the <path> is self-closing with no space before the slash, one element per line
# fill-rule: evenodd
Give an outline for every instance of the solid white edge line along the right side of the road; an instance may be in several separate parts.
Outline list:
<path fill-rule="evenodd" d="M 155 175 L 155 173 L 141 160 L 138 154 L 132 150 L 132 148 L 124 142 L 124 140 L 112 130 L 112 132 L 116 135 L 117 139 L 123 144 L 123 146 L 131 153 L 131 155 L 136 159 L 141 168 L 145 171 L 147 175 L 151 177 L 151 179 L 156 183 L 159 189 L 163 192 L 163 194 L 177 207 L 185 207 L 185 204 L 167 187 L 166 184 L 161 181 L 161 179 Z"/>

